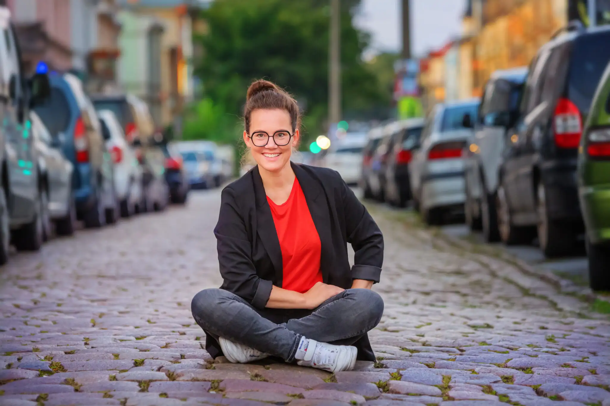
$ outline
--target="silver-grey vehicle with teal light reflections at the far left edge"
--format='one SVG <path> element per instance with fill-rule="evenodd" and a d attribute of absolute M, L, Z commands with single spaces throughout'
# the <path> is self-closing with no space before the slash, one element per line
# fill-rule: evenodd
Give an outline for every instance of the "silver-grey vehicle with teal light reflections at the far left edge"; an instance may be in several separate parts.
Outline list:
<path fill-rule="evenodd" d="M 0 27 L 4 32 L 0 47 L 0 264 L 5 264 L 11 240 L 18 250 L 38 250 L 43 242 L 47 190 L 29 136 L 28 117 L 30 109 L 48 97 L 49 82 L 43 71 L 30 79 L 24 76 L 6 7 L 0 7 Z"/>

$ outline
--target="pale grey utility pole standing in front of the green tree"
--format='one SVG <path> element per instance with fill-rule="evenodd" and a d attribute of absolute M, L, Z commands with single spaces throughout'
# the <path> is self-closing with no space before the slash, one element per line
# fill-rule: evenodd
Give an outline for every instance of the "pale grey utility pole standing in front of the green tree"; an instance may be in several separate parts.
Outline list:
<path fill-rule="evenodd" d="M 340 0 L 331 0 L 331 32 L 329 43 L 328 108 L 329 121 L 336 125 L 341 121 L 341 9 Z M 331 130 L 332 131 L 332 130 Z"/>

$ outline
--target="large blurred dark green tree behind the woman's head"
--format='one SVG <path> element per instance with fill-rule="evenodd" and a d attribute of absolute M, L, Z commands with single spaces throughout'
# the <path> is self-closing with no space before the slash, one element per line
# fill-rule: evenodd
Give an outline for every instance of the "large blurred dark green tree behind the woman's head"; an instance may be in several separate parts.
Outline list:
<path fill-rule="evenodd" d="M 343 111 L 362 111 L 387 102 L 387 91 L 362 61 L 367 33 L 353 26 L 358 0 L 342 1 Z M 325 132 L 328 98 L 328 0 L 223 0 L 204 10 L 204 35 L 195 38 L 203 56 L 195 74 L 214 114 L 236 123 L 254 79 L 265 78 L 292 93 L 304 110 L 304 132 Z M 223 127 L 223 126 L 221 126 Z M 231 128 L 226 125 L 223 128 Z M 234 139 L 234 133 L 223 135 Z M 302 143 L 302 145 L 304 145 Z"/>

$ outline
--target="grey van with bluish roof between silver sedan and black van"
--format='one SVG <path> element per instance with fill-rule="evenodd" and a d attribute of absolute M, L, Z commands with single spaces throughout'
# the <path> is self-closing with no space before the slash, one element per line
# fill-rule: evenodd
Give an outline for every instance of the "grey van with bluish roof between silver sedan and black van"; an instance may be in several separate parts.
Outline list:
<path fill-rule="evenodd" d="M 496 199 L 498 175 L 509 128 L 519 116 L 519 101 L 527 68 L 495 71 L 485 85 L 474 122 L 474 134 L 464 149 L 466 202 L 464 214 L 470 229 L 483 229 L 487 242 L 500 240 Z"/>

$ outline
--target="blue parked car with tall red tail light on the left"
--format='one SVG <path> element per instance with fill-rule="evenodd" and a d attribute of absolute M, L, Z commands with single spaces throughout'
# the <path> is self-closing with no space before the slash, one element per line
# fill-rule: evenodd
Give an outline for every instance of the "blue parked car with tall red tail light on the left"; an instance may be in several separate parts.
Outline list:
<path fill-rule="evenodd" d="M 74 165 L 72 187 L 78 219 L 89 228 L 115 223 L 119 208 L 113 164 L 98 114 L 75 75 L 51 73 L 49 80 L 51 96 L 35 111 Z"/>

